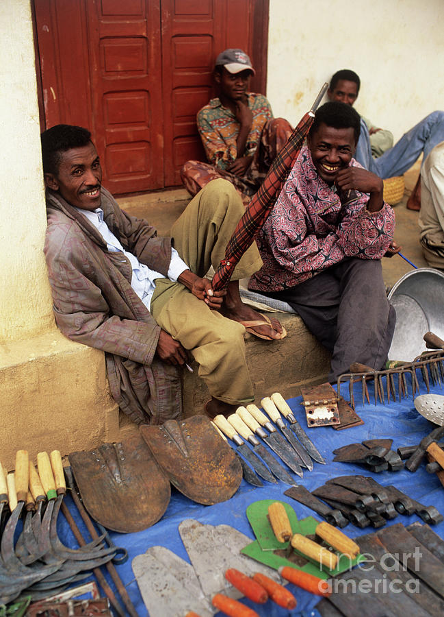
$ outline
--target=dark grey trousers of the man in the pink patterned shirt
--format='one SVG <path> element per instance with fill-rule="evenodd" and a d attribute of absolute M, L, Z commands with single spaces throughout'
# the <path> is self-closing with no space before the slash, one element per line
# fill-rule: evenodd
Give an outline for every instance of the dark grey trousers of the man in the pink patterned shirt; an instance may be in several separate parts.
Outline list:
<path fill-rule="evenodd" d="M 347 258 L 292 289 L 267 295 L 288 302 L 332 353 L 330 382 L 348 373 L 352 362 L 383 367 L 396 315 L 379 260 Z"/>

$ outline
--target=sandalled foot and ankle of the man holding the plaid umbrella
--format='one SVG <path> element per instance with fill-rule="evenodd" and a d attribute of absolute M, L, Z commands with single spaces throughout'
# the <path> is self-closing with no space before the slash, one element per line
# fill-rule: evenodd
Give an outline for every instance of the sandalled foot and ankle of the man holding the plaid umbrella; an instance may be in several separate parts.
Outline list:
<path fill-rule="evenodd" d="M 257 332 L 261 337 L 268 339 L 279 340 L 283 338 L 283 327 L 278 322 L 278 319 L 265 317 L 261 315 L 261 313 L 254 311 L 251 306 L 241 301 L 239 281 L 237 280 L 228 283 L 227 293 L 224 297 L 220 312 L 224 317 L 233 319 L 235 322 L 270 322 L 263 326 L 248 326 L 248 331 L 252 332 L 252 330 L 254 330 L 254 332 Z"/>

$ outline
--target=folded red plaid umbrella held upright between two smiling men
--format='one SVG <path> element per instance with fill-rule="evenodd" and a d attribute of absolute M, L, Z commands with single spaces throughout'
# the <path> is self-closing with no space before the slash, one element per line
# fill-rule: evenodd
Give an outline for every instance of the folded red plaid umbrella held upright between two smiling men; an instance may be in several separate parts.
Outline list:
<path fill-rule="evenodd" d="M 304 115 L 298 126 L 293 130 L 289 140 L 274 159 L 259 191 L 252 196 L 250 204 L 248 204 L 244 215 L 239 223 L 237 223 L 237 227 L 228 245 L 226 245 L 225 258 L 222 259 L 213 276 L 212 287 L 214 291 L 224 289 L 224 287 L 228 285 L 237 262 L 248 247 L 252 245 L 254 238 L 257 236 L 267 216 L 272 211 L 291 168 L 296 158 L 298 158 L 304 139 L 313 123 L 314 112 L 327 88 L 328 84 L 322 86 L 321 91 L 313 103 L 313 107 Z"/>

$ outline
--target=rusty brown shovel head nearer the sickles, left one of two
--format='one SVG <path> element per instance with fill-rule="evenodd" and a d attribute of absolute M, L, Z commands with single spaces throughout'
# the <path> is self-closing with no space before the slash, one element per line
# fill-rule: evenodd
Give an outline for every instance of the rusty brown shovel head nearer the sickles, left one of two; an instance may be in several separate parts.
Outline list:
<path fill-rule="evenodd" d="M 69 461 L 83 504 L 107 529 L 142 531 L 170 503 L 170 482 L 140 435 L 91 452 L 73 452 Z"/>

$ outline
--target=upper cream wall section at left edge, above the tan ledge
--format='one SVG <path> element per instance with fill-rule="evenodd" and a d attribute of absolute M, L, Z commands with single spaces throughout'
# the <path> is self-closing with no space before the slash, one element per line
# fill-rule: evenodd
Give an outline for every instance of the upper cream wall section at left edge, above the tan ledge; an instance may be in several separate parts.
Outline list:
<path fill-rule="evenodd" d="M 10 343 L 44 332 L 53 315 L 29 0 L 2 0 L 0 24 L 0 343 Z"/>

